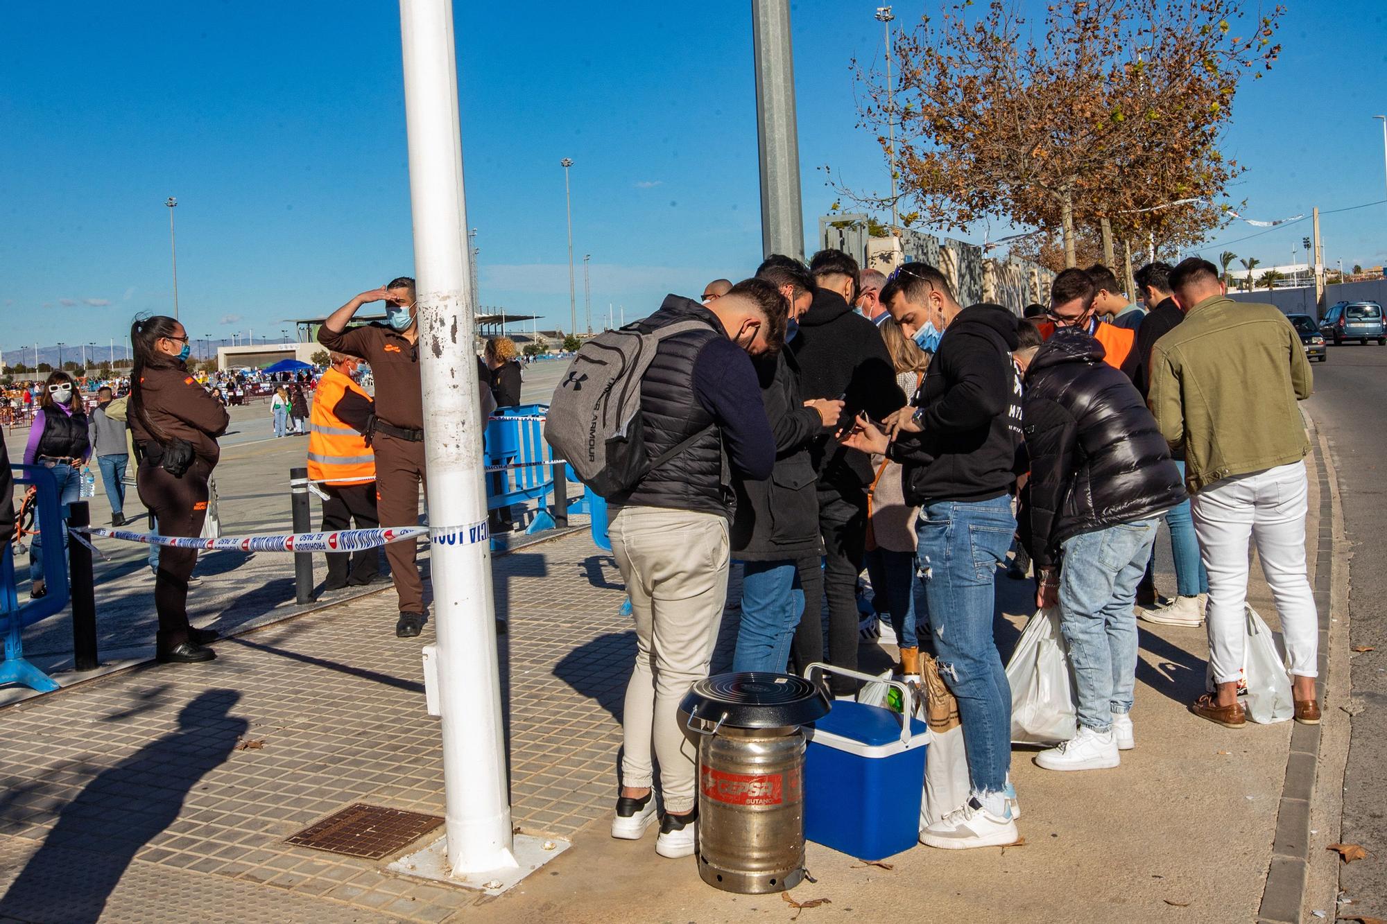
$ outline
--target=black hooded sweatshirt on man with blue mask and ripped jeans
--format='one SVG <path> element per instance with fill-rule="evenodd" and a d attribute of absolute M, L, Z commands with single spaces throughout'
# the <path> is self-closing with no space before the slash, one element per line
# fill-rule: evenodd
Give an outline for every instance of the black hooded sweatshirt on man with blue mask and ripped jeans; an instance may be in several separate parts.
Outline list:
<path fill-rule="evenodd" d="M 988 501 L 1017 481 L 1021 448 L 1021 377 L 1017 316 L 1001 305 L 970 305 L 939 340 L 915 397 L 920 433 L 904 430 L 888 458 L 903 463 L 911 506 Z"/>

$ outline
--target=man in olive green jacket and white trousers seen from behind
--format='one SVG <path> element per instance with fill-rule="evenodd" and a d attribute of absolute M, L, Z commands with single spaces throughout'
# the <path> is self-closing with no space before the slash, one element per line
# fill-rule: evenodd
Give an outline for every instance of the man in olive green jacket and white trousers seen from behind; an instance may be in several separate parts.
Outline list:
<path fill-rule="evenodd" d="M 1295 720 L 1318 724 L 1319 615 L 1305 570 L 1309 441 L 1297 401 L 1311 395 L 1300 334 L 1272 305 L 1225 296 L 1218 266 L 1190 257 L 1171 273 L 1184 320 L 1151 348 L 1151 411 L 1173 451 L 1209 576 L 1216 691 L 1190 710 L 1230 728 L 1244 667 L 1248 542 L 1257 542 L 1290 659 Z"/>

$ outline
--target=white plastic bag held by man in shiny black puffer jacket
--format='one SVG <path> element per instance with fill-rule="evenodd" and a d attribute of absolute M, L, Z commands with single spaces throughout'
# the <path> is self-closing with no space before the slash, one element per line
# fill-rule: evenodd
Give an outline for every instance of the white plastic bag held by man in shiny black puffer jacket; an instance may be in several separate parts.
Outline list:
<path fill-rule="evenodd" d="M 1007 663 L 1007 683 L 1013 744 L 1053 745 L 1074 737 L 1074 669 L 1060 634 L 1058 608 L 1042 609 L 1026 622 Z"/>

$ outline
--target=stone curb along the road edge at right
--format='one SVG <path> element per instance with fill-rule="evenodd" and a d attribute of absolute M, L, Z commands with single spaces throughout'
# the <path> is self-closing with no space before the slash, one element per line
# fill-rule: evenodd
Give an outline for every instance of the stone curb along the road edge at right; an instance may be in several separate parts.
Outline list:
<path fill-rule="evenodd" d="M 1334 495 L 1329 469 L 1325 463 L 1326 445 L 1309 415 L 1304 415 L 1312 440 L 1315 479 L 1319 483 L 1319 534 L 1315 548 L 1315 610 L 1319 613 L 1319 678 L 1316 695 L 1325 702 L 1329 687 L 1329 626 L 1333 602 L 1334 554 Z M 1286 758 L 1286 780 L 1276 812 L 1276 835 L 1272 841 L 1272 862 L 1266 871 L 1266 888 L 1257 910 L 1258 924 L 1298 924 L 1309 875 L 1311 805 L 1315 798 L 1315 776 L 1319 760 L 1322 726 L 1302 726 L 1293 721 L 1290 753 Z"/>

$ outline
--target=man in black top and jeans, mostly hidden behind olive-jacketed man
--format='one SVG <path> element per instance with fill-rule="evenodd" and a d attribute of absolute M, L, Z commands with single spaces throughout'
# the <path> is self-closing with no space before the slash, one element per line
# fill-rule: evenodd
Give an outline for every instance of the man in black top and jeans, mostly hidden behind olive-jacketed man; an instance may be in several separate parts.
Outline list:
<path fill-rule="evenodd" d="M 1142 393 L 1143 401 L 1150 397 L 1151 390 L 1151 351 L 1157 341 L 1184 320 L 1184 312 L 1171 296 L 1169 264 L 1147 264 L 1136 271 L 1136 287 L 1150 307 L 1142 319 L 1142 326 L 1136 330 L 1137 375 L 1136 387 Z M 1184 456 L 1175 454 L 1175 466 L 1184 477 Z M 1165 524 L 1171 530 L 1171 554 L 1175 558 L 1175 592 L 1176 597 L 1164 606 L 1155 606 L 1160 595 L 1155 592 L 1155 555 L 1146 566 L 1146 577 L 1137 587 L 1137 604 L 1150 602 L 1153 606 L 1143 608 L 1139 617 L 1148 623 L 1162 626 L 1190 626 L 1198 627 L 1204 623 L 1204 606 L 1209 594 L 1209 576 L 1200 561 L 1200 541 L 1194 536 L 1194 522 L 1190 519 L 1190 502 L 1184 499 L 1172 506 L 1165 515 Z"/>

